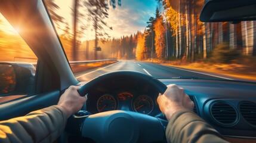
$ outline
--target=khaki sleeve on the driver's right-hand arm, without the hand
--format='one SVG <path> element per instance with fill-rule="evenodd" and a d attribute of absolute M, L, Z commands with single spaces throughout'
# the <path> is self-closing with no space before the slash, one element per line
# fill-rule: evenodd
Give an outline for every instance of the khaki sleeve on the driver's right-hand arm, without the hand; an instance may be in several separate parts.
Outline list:
<path fill-rule="evenodd" d="M 167 142 L 227 142 L 223 136 L 192 111 L 174 113 L 166 128 Z"/>

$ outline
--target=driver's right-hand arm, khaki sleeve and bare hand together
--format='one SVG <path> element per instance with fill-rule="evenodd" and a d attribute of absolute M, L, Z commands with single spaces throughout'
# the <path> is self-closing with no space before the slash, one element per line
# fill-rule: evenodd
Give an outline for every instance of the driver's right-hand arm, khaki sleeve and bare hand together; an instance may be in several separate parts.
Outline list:
<path fill-rule="evenodd" d="M 168 142 L 227 142 L 217 130 L 193 113 L 194 104 L 183 88 L 168 85 L 165 93 L 159 95 L 158 104 L 169 121 L 166 128 Z"/>

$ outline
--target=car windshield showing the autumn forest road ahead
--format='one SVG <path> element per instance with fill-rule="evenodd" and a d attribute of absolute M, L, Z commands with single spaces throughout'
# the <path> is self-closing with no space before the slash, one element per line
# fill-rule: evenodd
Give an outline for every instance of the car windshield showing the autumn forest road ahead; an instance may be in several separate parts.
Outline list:
<path fill-rule="evenodd" d="M 202 23 L 204 1 L 44 2 L 78 80 L 134 70 L 156 78 L 256 81 L 256 22 Z"/>

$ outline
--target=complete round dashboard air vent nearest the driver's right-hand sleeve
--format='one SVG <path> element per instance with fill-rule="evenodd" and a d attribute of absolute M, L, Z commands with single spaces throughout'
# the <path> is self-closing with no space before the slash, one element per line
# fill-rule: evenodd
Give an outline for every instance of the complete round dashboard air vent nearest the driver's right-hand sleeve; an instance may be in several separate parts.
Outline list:
<path fill-rule="evenodd" d="M 235 108 L 223 101 L 212 104 L 211 114 L 221 125 L 233 125 L 238 120 L 238 113 Z"/>

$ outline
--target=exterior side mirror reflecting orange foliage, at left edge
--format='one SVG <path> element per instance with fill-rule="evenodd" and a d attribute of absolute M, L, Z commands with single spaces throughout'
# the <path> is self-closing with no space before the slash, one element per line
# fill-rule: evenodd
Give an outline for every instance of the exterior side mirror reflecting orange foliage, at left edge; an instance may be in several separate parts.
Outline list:
<path fill-rule="evenodd" d="M 35 67 L 30 63 L 0 63 L 0 95 L 27 95 L 33 92 Z"/>

